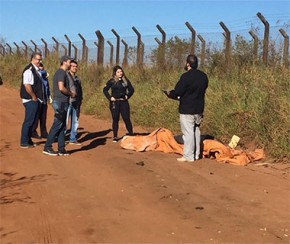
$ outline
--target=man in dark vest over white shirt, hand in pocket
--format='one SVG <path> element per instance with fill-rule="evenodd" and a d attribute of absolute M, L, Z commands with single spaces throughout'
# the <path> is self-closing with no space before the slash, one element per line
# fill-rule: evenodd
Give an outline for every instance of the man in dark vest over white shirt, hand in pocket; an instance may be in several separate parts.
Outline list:
<path fill-rule="evenodd" d="M 25 117 L 21 129 L 21 148 L 34 147 L 34 143 L 31 140 L 32 126 L 37 117 L 39 103 L 43 102 L 43 84 L 39 74 L 41 60 L 41 53 L 32 53 L 31 62 L 24 68 L 22 73 L 20 97 L 25 108 Z"/>

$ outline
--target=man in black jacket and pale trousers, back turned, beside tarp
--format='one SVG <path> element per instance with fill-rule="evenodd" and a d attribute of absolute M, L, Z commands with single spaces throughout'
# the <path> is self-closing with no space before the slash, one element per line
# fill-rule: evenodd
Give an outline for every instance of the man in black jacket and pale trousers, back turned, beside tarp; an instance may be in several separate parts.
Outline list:
<path fill-rule="evenodd" d="M 179 100 L 180 126 L 183 133 L 184 149 L 180 162 L 193 162 L 200 155 L 200 123 L 204 111 L 204 98 L 208 86 L 207 75 L 198 70 L 198 59 L 188 55 L 185 72 L 177 82 L 173 94 Z"/>

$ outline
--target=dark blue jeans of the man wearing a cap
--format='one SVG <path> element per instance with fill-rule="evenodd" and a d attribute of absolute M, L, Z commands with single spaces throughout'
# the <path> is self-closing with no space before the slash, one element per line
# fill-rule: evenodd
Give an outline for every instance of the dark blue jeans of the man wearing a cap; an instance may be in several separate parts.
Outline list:
<path fill-rule="evenodd" d="M 61 151 L 65 148 L 65 127 L 68 102 L 53 101 L 52 107 L 54 109 L 54 120 L 47 141 L 44 145 L 44 149 L 52 149 L 52 143 L 57 137 L 58 151 Z"/>

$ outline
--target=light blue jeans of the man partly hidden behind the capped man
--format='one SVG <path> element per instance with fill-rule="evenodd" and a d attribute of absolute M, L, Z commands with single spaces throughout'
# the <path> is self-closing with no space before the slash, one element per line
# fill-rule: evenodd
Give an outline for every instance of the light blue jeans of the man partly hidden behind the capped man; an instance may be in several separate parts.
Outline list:
<path fill-rule="evenodd" d="M 70 126 L 70 137 L 71 142 L 77 140 L 77 130 L 79 127 L 79 116 L 80 116 L 80 107 L 76 103 L 71 103 L 68 106 L 66 125 L 68 125 L 69 117 L 71 117 L 71 126 Z"/>

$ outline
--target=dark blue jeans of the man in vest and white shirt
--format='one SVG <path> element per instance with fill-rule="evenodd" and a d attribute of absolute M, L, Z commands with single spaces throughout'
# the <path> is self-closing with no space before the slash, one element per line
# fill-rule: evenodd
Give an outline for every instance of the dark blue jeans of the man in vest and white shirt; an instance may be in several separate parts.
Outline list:
<path fill-rule="evenodd" d="M 23 106 L 25 108 L 25 117 L 21 128 L 20 144 L 28 145 L 32 144 L 32 126 L 37 117 L 39 101 L 30 100 L 29 102 L 23 103 Z"/>

